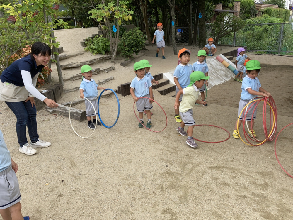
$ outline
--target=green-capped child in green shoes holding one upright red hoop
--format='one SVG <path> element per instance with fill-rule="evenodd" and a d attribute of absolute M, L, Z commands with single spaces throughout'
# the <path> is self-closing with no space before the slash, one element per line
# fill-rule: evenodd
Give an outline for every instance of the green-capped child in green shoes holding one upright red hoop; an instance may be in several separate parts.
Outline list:
<path fill-rule="evenodd" d="M 153 100 L 151 99 L 138 99 L 140 97 L 153 97 L 152 84 L 149 77 L 145 76 L 144 64 L 139 61 L 133 65 L 136 77 L 130 84 L 130 94 L 136 102 L 136 109 L 139 112 L 139 124 L 138 127 L 142 128 L 144 124 L 144 114 L 147 113 L 147 128 L 151 128 L 151 109 L 153 108 Z M 134 90 L 135 89 L 135 90 Z M 135 91 L 135 92 L 134 92 Z"/>

